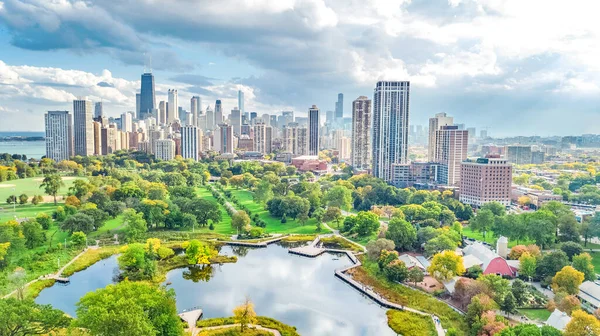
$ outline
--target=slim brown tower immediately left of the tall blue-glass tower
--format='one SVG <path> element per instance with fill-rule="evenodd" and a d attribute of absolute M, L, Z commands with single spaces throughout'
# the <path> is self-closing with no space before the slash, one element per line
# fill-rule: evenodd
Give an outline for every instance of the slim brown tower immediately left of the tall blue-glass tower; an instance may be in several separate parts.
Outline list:
<path fill-rule="evenodd" d="M 352 102 L 352 167 L 370 169 L 371 153 L 371 100 L 360 96 Z"/>

